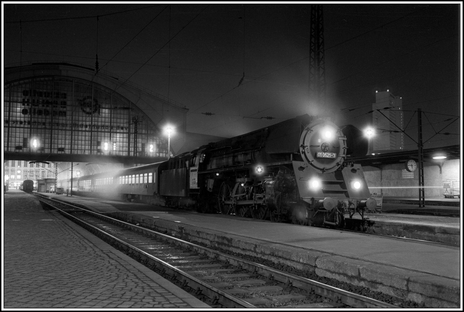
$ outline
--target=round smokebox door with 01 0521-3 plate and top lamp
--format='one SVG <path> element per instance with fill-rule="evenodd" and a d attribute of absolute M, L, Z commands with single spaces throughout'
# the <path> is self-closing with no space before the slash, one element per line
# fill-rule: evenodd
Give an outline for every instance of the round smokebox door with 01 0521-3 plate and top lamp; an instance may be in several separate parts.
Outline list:
<path fill-rule="evenodd" d="M 300 153 L 319 173 L 338 169 L 346 156 L 346 137 L 330 121 L 311 122 L 300 136 Z"/>

